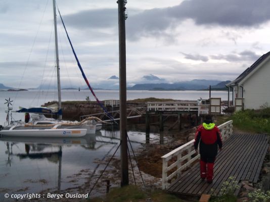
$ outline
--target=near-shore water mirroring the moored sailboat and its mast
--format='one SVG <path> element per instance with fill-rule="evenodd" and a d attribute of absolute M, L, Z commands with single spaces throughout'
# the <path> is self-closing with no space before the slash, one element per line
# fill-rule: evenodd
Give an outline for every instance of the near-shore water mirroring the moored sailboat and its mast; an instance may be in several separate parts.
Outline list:
<path fill-rule="evenodd" d="M 145 142 L 141 132 L 128 134 L 133 149 Z M 1 137 L 0 201 L 10 201 L 7 192 L 59 193 L 78 187 L 104 169 L 119 143 L 119 130 L 113 127 L 80 138 Z"/>

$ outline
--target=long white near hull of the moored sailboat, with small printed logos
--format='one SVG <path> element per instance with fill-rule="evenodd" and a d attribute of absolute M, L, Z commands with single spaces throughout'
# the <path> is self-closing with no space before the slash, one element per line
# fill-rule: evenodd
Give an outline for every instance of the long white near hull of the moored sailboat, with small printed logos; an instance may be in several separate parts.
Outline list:
<path fill-rule="evenodd" d="M 59 128 L 59 129 L 18 129 L 1 130 L 4 136 L 15 137 L 82 137 L 85 136 L 86 128 Z"/>

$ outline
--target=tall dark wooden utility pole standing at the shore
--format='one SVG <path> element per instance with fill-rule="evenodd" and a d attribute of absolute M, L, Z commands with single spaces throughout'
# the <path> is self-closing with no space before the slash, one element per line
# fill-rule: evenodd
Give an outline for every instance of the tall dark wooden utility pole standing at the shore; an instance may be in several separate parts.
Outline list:
<path fill-rule="evenodd" d="M 119 29 L 119 86 L 120 86 L 120 140 L 121 140 L 121 186 L 128 185 L 128 158 L 126 133 L 126 52 L 125 52 L 125 4 L 118 0 Z"/>

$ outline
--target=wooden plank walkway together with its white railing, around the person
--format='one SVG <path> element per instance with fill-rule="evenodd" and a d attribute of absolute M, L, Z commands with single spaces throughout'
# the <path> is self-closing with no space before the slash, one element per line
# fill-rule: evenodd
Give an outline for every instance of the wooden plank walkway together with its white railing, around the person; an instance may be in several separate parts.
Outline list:
<path fill-rule="evenodd" d="M 225 141 L 215 161 L 214 179 L 211 184 L 200 178 L 199 155 L 194 157 L 195 151 L 192 148 L 194 141 L 191 141 L 192 143 L 187 143 L 162 157 L 162 188 L 180 195 L 200 196 L 203 193 L 218 195 L 223 182 L 231 181 L 229 177 L 234 177 L 240 187 L 242 180 L 258 182 L 263 159 L 268 149 L 268 139 L 265 134 L 232 133 L 230 128 L 228 130 L 228 126 L 232 126 L 231 123 L 227 122 L 219 126 Z M 183 151 L 188 151 L 184 157 L 182 157 Z M 178 157 L 178 160 L 174 163 L 170 162 L 171 165 L 168 166 L 173 156 Z M 191 169 L 185 171 L 191 165 L 193 165 Z M 177 170 L 167 176 L 168 171 L 175 166 Z M 169 184 L 170 180 L 173 181 Z M 239 191 L 240 188 L 235 190 L 235 194 L 237 195 Z"/>

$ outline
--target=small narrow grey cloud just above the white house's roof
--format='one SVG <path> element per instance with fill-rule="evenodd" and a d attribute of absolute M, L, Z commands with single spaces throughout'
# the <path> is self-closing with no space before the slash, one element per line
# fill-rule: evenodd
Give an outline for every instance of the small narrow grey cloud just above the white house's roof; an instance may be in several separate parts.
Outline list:
<path fill-rule="evenodd" d="M 212 59 L 224 59 L 230 62 L 236 62 L 236 61 L 256 61 L 261 55 L 256 54 L 255 52 L 245 50 L 240 53 L 231 53 L 228 55 L 211 55 Z"/>

